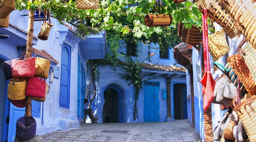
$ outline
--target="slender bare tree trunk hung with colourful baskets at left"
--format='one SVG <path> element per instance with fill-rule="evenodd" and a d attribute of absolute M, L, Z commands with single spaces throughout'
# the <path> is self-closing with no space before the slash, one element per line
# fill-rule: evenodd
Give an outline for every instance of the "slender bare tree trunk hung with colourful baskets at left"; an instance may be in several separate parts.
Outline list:
<path fill-rule="evenodd" d="M 32 46 L 33 46 L 33 32 L 34 32 L 34 11 L 29 10 L 28 16 L 28 33 L 27 33 L 27 44 L 26 44 L 26 59 L 31 57 Z M 31 97 L 26 97 L 26 112 L 25 116 L 31 116 Z"/>

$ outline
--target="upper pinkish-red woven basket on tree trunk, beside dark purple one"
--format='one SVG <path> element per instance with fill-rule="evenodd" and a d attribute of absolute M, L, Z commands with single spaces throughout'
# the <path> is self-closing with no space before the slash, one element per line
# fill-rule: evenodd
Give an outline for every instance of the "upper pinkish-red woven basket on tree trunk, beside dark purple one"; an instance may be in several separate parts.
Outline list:
<path fill-rule="evenodd" d="M 28 78 L 35 75 L 36 59 L 32 57 L 25 59 L 25 53 L 26 51 L 23 52 L 18 61 L 13 62 L 12 76 L 14 78 Z"/>

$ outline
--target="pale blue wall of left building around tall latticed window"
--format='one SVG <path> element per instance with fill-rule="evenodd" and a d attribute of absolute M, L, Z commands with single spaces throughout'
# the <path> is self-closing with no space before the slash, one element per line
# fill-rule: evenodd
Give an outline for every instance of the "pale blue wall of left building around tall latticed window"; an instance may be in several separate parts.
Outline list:
<path fill-rule="evenodd" d="M 28 25 L 28 16 L 21 16 L 21 14 L 23 14 L 23 12 L 13 11 L 10 14 L 9 22 L 12 23 L 13 25 L 16 25 L 21 30 L 26 31 Z M 48 40 L 37 41 L 34 39 L 33 47 L 37 48 L 38 50 L 45 50 L 46 52 L 48 52 L 53 58 L 59 61 L 59 64 L 57 65 L 58 67 L 60 67 L 61 65 L 61 47 L 63 42 L 67 43 L 69 46 L 72 47 L 70 77 L 70 86 L 72 87 L 70 87 L 70 104 L 69 109 L 59 107 L 60 78 L 54 78 L 53 83 L 50 83 L 49 79 L 47 79 L 47 83 L 51 87 L 50 92 L 47 95 L 46 101 L 43 105 L 40 106 L 40 117 L 35 118 L 37 121 L 37 135 L 42 135 L 59 129 L 69 129 L 78 127 L 79 121 L 83 121 L 82 118 L 77 118 L 77 59 L 79 54 L 81 58 L 81 64 L 83 65 L 83 67 L 85 67 L 84 75 L 86 76 L 87 71 L 85 59 L 87 58 L 84 54 L 82 54 L 81 51 L 85 48 L 87 51 L 90 51 L 90 47 L 86 47 L 86 44 L 80 43 L 80 39 L 75 39 L 75 36 L 72 35 L 71 31 L 67 27 L 60 25 L 56 19 L 52 18 L 51 21 L 53 23 L 53 27 L 51 29 Z M 33 35 L 35 37 L 37 37 L 40 31 L 41 25 L 42 21 L 34 22 Z M 9 28 L 1 28 L 0 30 L 1 32 L 4 31 L 5 34 L 8 34 L 10 36 L 10 38 L 6 40 L 0 39 L 0 55 L 6 56 L 9 59 L 19 58 L 17 46 L 26 46 L 27 35 L 11 26 L 9 26 Z M 104 32 L 97 36 L 102 37 L 102 34 L 104 34 Z M 104 50 L 102 49 L 102 53 L 99 56 L 103 56 L 104 54 Z M 51 65 L 51 68 L 52 67 L 53 65 Z M 2 122 L 0 123 L 2 124 Z"/>

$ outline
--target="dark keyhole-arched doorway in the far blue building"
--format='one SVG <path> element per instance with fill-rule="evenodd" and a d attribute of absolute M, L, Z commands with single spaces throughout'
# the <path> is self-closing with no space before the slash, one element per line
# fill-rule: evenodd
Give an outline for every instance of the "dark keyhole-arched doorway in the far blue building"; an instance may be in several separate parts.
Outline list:
<path fill-rule="evenodd" d="M 102 111 L 103 123 L 122 123 L 123 122 L 123 94 L 121 89 L 110 84 L 104 90 L 104 106 Z"/>

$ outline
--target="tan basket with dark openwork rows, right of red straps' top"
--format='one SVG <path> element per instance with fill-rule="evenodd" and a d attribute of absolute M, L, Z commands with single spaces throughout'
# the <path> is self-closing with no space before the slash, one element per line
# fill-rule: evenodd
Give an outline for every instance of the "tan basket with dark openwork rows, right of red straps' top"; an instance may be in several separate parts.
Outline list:
<path fill-rule="evenodd" d="M 226 10 L 220 6 L 218 0 L 212 0 L 207 6 L 207 16 L 218 23 L 231 39 L 239 34 L 236 23 Z"/>

